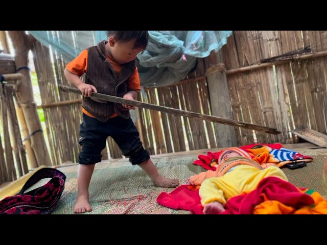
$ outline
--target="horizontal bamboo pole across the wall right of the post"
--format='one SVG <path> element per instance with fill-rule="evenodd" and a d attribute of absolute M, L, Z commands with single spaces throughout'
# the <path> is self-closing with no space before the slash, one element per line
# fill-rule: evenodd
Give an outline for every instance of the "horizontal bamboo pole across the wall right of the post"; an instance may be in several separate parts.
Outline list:
<path fill-rule="evenodd" d="M 304 59 L 316 58 L 316 57 L 321 57 L 321 56 L 327 56 L 327 51 L 317 52 L 317 53 L 308 54 L 308 55 L 300 55 L 300 56 L 290 57 L 290 58 L 284 58 L 283 60 L 262 63 L 262 64 L 256 64 L 256 65 L 249 65 L 249 66 L 245 66 L 242 68 L 230 69 L 230 70 L 226 71 L 226 75 L 236 74 L 236 73 L 245 72 L 245 71 L 249 71 L 249 70 L 260 69 L 260 68 L 264 68 L 264 67 L 268 67 L 268 66 L 272 66 L 272 65 L 285 64 L 285 63 L 288 63 L 288 62 L 294 61 L 294 60 L 304 60 Z"/>

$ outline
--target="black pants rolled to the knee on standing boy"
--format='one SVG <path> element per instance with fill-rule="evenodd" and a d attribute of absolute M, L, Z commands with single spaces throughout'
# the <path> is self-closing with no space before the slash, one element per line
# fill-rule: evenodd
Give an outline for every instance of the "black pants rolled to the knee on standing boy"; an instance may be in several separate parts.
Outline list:
<path fill-rule="evenodd" d="M 101 151 L 106 147 L 107 137 L 111 136 L 118 144 L 123 155 L 135 165 L 150 159 L 143 148 L 139 134 L 131 118 L 116 116 L 106 122 L 99 121 L 83 113 L 80 126 L 79 153 L 80 164 L 101 162 Z"/>

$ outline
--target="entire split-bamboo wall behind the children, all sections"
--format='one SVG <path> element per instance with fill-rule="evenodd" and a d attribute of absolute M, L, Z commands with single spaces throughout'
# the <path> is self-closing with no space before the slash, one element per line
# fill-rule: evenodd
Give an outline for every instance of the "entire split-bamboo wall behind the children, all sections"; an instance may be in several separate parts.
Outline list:
<path fill-rule="evenodd" d="M 51 38 L 61 38 L 60 32 L 51 35 L 53 35 Z M 75 40 L 75 45 L 79 45 L 74 35 L 76 32 L 72 32 L 72 37 L 69 38 L 72 42 Z M 222 48 L 222 54 L 233 119 L 276 128 L 282 132 L 280 135 L 269 135 L 235 128 L 238 145 L 254 142 L 295 143 L 299 139 L 292 131 L 299 127 L 311 128 L 326 134 L 327 81 L 324 68 L 326 56 L 308 59 L 297 57 L 282 63 L 281 60 L 285 57 L 277 58 L 265 67 L 255 68 L 255 64 L 263 63 L 263 59 L 301 50 L 309 45 L 311 50 L 308 54 L 326 51 L 326 36 L 325 31 L 235 31 L 228 38 L 227 44 Z M 138 100 L 211 114 L 211 100 L 205 76 L 205 68 L 210 67 L 204 66 L 205 59 L 198 59 L 196 70 L 185 80 L 166 87 L 146 88 L 139 94 Z M 58 90 L 60 84 L 69 85 L 63 75 L 66 64 L 62 57 L 56 53 L 51 54 L 49 48 L 38 42 L 34 44 L 34 64 L 46 124 L 43 130 L 48 136 L 48 148 L 53 165 L 67 161 L 77 162 L 81 95 Z M 12 91 L 8 93 L 11 94 Z M 10 109 L 4 109 L 8 103 L 10 105 L 13 103 L 7 102 L 7 97 L 0 98 L 2 127 L 8 129 L 10 124 L 16 129 L 15 122 L 8 121 L 7 114 L 11 113 Z M 14 118 L 13 114 L 10 115 Z M 139 109 L 136 127 L 150 154 L 218 146 L 211 122 Z M 0 135 L 2 142 L 5 142 L 5 145 L 0 145 L 0 167 L 8 170 L 6 174 L 1 171 L 0 182 L 13 180 L 26 171 L 24 163 L 26 159 L 24 160 L 22 156 L 25 154 L 19 142 L 21 136 L 18 134 L 11 136 L 10 140 L 9 132 L 11 131 L 7 130 Z M 219 132 L 217 135 L 219 137 Z M 121 151 L 111 138 L 108 138 L 108 150 L 103 151 L 103 159 L 122 157 Z M 7 162 L 14 162 L 14 159 L 17 159 L 16 164 L 19 162 L 16 165 L 19 173 L 14 173 L 14 167 L 7 166 Z"/>

